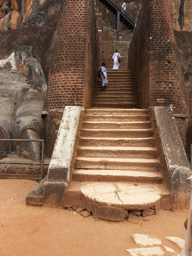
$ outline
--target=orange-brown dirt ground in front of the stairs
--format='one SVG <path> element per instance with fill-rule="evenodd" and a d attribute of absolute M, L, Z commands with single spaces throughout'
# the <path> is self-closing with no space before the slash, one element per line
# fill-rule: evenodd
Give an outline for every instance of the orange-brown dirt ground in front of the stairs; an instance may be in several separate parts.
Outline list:
<path fill-rule="evenodd" d="M 0 179 L 0 256 L 129 256 L 127 248 L 139 247 L 131 237 L 134 233 L 153 235 L 180 253 L 165 237 L 184 238 L 187 210 L 161 210 L 139 224 L 95 220 L 64 209 L 25 205 L 35 185 L 34 180 Z"/>

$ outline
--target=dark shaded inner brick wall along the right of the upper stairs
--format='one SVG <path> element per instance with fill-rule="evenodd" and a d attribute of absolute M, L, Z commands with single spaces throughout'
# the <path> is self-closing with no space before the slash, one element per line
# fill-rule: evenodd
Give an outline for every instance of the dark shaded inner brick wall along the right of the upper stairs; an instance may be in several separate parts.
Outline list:
<path fill-rule="evenodd" d="M 132 78 L 139 108 L 149 106 L 149 1 L 142 1 L 128 50 L 128 67 Z"/>

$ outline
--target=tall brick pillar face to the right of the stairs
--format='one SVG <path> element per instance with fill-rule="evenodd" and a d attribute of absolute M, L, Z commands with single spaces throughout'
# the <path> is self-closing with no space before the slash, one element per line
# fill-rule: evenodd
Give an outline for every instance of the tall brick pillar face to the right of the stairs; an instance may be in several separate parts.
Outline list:
<path fill-rule="evenodd" d="M 186 113 L 186 97 L 168 0 L 149 3 L 149 105 Z"/>

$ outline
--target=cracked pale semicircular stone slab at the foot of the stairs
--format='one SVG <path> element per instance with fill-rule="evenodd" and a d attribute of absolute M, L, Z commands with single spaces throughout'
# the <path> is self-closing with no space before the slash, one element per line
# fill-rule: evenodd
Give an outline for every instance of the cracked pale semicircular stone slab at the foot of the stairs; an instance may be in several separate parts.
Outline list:
<path fill-rule="evenodd" d="M 161 189 L 155 185 L 95 182 L 80 187 L 90 202 L 124 209 L 146 209 L 161 198 Z"/>

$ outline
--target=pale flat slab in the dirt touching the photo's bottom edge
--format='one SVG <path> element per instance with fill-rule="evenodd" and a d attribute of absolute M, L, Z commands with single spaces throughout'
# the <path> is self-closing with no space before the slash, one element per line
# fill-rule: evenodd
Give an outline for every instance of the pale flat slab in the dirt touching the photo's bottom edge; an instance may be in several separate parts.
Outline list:
<path fill-rule="evenodd" d="M 164 252 L 160 247 L 126 249 L 131 256 L 163 256 Z"/>

